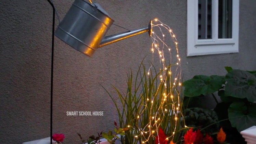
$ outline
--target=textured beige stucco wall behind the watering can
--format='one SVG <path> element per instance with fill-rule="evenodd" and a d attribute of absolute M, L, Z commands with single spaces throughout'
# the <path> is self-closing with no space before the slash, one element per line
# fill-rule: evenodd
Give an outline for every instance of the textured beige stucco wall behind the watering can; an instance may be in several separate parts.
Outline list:
<path fill-rule="evenodd" d="M 55 0 L 62 19 L 73 0 Z M 184 79 L 193 75 L 223 75 L 224 66 L 256 69 L 256 1 L 240 0 L 239 53 L 186 57 L 186 0 L 97 1 L 115 23 L 129 29 L 157 17 L 176 33 Z M 50 133 L 50 70 L 52 9 L 47 0 L 0 1 L 0 143 L 22 143 Z M 58 21 L 56 19 L 56 24 Z M 109 34 L 124 30 L 112 26 Z M 65 143 L 79 143 L 113 128 L 116 111 L 103 85 L 125 92 L 126 72 L 136 70 L 144 56 L 151 60 L 151 40 L 141 34 L 98 49 L 87 57 L 55 38 L 53 132 Z M 212 100 L 208 100 L 212 103 Z M 100 117 L 66 116 L 66 111 L 104 111 Z"/>

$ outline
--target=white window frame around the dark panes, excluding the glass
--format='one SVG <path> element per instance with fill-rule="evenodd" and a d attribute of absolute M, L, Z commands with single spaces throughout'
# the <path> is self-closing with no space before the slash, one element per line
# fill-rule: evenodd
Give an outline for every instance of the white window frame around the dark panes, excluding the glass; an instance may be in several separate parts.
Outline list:
<path fill-rule="evenodd" d="M 212 39 L 198 39 L 198 0 L 187 1 L 187 56 L 239 52 L 239 0 L 232 1 L 232 38 L 218 38 L 218 0 L 212 0 Z"/>

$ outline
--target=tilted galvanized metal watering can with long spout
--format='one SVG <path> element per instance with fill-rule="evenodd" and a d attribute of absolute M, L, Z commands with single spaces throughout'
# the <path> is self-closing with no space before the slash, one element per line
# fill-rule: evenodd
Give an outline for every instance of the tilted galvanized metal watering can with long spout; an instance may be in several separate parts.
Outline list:
<path fill-rule="evenodd" d="M 75 0 L 55 31 L 55 36 L 74 49 L 92 56 L 97 48 L 123 40 L 143 32 L 152 32 L 152 22 L 148 27 L 130 30 L 120 34 L 105 36 L 114 20 L 98 3 Z"/>

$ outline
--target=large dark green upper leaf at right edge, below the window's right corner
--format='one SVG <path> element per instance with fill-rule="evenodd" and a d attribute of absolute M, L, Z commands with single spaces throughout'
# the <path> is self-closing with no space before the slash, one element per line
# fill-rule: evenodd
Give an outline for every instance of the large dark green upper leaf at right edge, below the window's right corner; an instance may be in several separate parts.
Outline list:
<path fill-rule="evenodd" d="M 244 70 L 234 69 L 226 75 L 225 95 L 256 101 L 256 77 Z"/>

